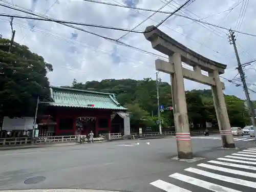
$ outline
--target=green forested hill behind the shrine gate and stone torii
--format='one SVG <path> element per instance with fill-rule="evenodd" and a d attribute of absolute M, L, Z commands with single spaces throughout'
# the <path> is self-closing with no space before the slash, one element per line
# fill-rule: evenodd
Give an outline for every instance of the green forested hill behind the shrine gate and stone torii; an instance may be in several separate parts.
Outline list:
<path fill-rule="evenodd" d="M 172 106 L 170 85 L 167 82 L 159 83 L 160 104 Z M 157 120 L 157 94 L 156 81 L 151 78 L 143 80 L 134 79 L 104 79 L 77 82 L 74 79 L 72 88 L 116 94 L 120 104 L 133 112 L 131 123 L 154 126 Z M 205 125 L 205 122 L 217 123 L 211 90 L 186 91 L 186 100 L 189 120 L 193 124 Z M 244 110 L 244 101 L 236 96 L 225 95 L 230 123 L 233 126 L 244 126 L 249 123 L 247 112 Z M 153 115 L 153 117 L 152 117 Z M 170 111 L 161 113 L 164 126 L 174 125 L 173 115 Z M 142 120 L 143 119 L 143 122 Z M 145 120 L 146 119 L 146 120 Z"/>

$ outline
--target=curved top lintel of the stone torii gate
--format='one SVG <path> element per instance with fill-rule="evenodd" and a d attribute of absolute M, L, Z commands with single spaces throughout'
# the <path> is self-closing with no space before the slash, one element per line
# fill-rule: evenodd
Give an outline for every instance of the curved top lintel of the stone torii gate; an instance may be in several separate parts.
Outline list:
<path fill-rule="evenodd" d="M 226 65 L 210 60 L 192 51 L 155 26 L 146 27 L 144 36 L 148 41 L 151 41 L 151 45 L 154 49 L 165 55 L 172 56 L 175 52 L 180 53 L 182 62 L 190 66 L 200 66 L 202 70 L 207 72 L 212 72 L 213 70 L 219 71 L 219 74 L 225 72 Z"/>

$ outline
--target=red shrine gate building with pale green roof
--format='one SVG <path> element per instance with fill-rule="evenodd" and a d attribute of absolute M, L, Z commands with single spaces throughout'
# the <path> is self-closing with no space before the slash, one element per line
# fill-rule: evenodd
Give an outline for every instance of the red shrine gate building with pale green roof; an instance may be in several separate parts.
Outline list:
<path fill-rule="evenodd" d="M 85 135 L 90 131 L 94 132 L 95 137 L 113 133 L 111 115 L 126 111 L 114 94 L 58 87 L 50 89 L 53 102 L 49 103 L 43 114 L 38 114 L 39 137 Z"/>

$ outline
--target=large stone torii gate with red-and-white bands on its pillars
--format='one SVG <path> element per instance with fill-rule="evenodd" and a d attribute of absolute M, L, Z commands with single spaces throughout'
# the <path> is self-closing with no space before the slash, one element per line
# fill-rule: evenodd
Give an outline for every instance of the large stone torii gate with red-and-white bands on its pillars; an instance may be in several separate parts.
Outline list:
<path fill-rule="evenodd" d="M 220 81 L 219 76 L 224 73 L 227 66 L 188 49 L 155 26 L 146 27 L 144 36 L 147 40 L 151 41 L 151 45 L 155 50 L 169 57 L 169 62 L 156 59 L 155 65 L 157 71 L 168 73 L 171 78 L 178 158 L 193 158 L 183 78 L 211 86 L 220 135 L 222 137 L 222 146 L 234 148 L 222 91 L 225 89 L 225 86 Z M 182 62 L 192 66 L 194 70 L 183 68 Z M 208 76 L 203 75 L 201 70 L 208 72 Z"/>

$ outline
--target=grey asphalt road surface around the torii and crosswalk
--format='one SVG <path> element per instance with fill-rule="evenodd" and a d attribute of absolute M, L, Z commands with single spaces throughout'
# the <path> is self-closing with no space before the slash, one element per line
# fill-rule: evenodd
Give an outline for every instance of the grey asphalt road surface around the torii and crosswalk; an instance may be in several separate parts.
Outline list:
<path fill-rule="evenodd" d="M 177 154 L 174 138 L 0 151 L 0 189 L 163 191 L 150 183 L 166 180 L 170 174 L 183 173 L 184 169 L 195 167 L 198 163 L 255 146 L 254 141 L 239 140 L 236 141 L 239 150 L 223 150 L 220 148 L 221 140 L 200 137 L 193 138 L 192 144 L 194 156 L 203 157 L 204 160 L 188 163 L 172 159 Z M 33 177 L 37 178 L 29 179 Z M 188 187 L 184 183 L 182 185 Z M 195 188 L 192 191 L 206 190 Z"/>

